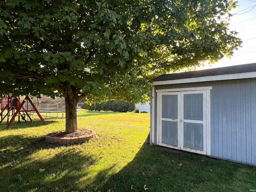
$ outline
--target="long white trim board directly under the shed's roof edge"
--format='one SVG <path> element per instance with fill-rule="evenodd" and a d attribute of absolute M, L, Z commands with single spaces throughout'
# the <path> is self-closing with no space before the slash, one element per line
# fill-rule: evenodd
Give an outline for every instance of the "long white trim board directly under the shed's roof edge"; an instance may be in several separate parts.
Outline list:
<path fill-rule="evenodd" d="M 168 85 L 168 84 L 193 83 L 193 82 L 205 82 L 205 81 L 246 79 L 246 78 L 256 78 L 256 72 L 225 74 L 225 75 L 205 76 L 205 77 L 175 79 L 175 80 L 164 80 L 164 81 L 154 81 L 153 83 L 150 83 L 150 85 Z"/>

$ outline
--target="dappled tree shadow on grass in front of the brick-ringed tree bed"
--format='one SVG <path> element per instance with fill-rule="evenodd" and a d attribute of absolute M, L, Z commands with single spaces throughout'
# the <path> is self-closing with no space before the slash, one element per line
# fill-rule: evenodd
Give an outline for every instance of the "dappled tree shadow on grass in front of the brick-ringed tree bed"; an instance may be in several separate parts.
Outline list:
<path fill-rule="evenodd" d="M 48 144 L 44 136 L 3 137 L 0 148 L 0 191 L 3 192 L 94 191 L 114 166 L 92 174 L 90 170 L 94 169 L 97 156 L 89 155 L 82 145 Z"/>

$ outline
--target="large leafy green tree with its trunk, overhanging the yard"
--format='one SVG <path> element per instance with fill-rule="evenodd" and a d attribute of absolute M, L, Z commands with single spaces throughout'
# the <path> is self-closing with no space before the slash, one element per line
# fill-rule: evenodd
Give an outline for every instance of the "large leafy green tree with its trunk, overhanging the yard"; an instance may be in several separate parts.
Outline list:
<path fill-rule="evenodd" d="M 66 132 L 82 98 L 136 101 L 158 74 L 214 62 L 241 43 L 229 0 L 2 0 L 0 90 L 64 96 Z"/>

